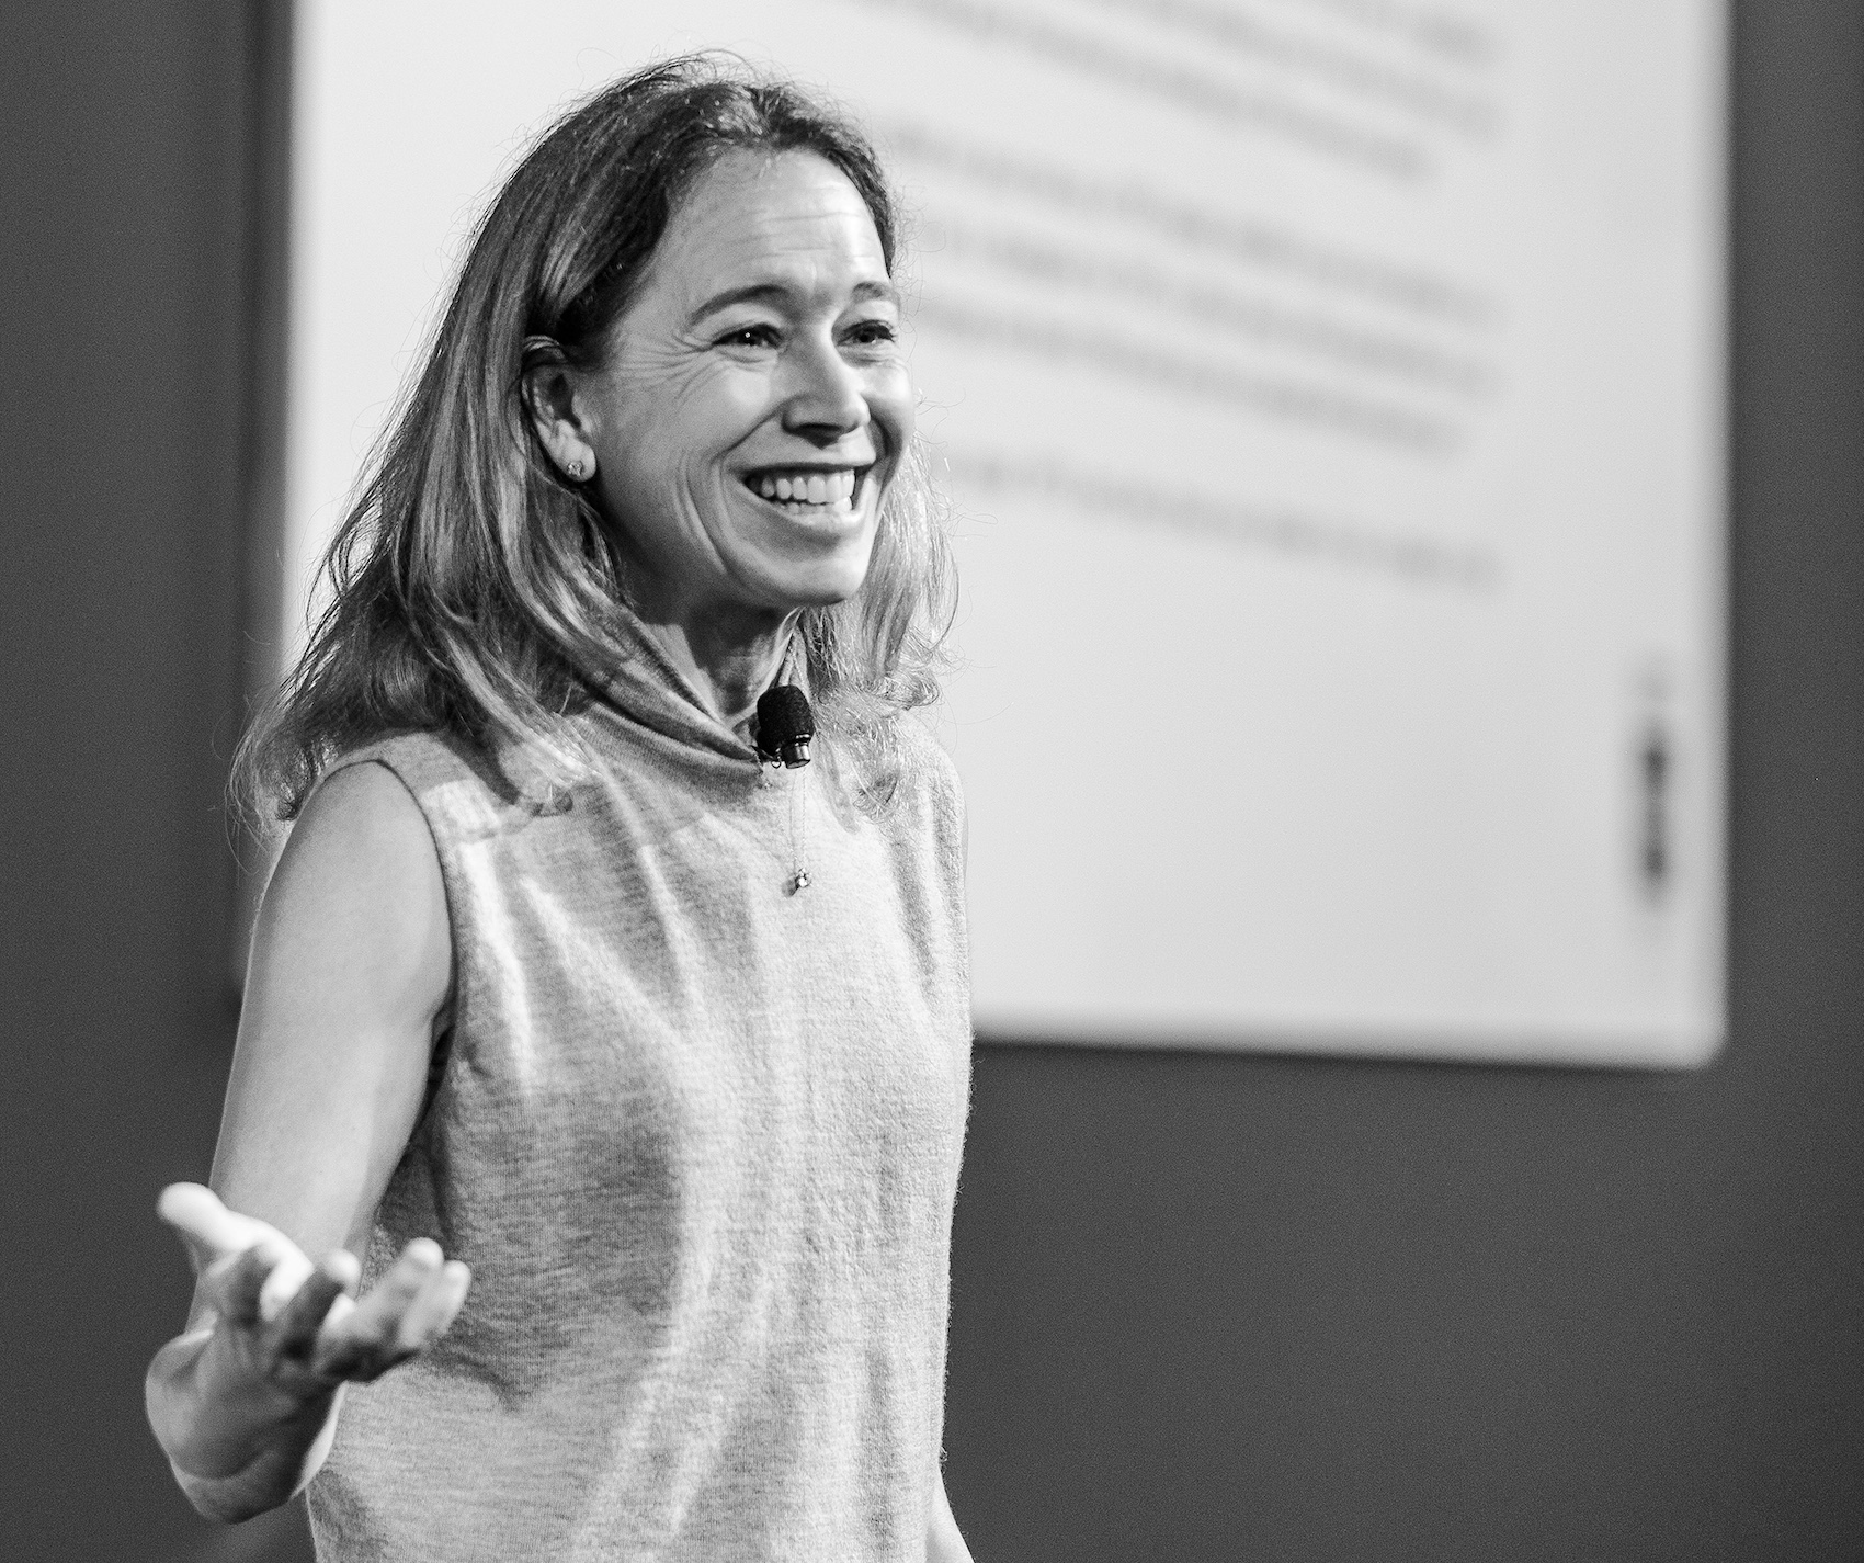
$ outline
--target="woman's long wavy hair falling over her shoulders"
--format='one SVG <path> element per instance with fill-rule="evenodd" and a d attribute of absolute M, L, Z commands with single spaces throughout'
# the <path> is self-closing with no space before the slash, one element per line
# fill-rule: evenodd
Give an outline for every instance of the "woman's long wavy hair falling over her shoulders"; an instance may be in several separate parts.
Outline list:
<path fill-rule="evenodd" d="M 453 733 L 514 785 L 513 761 L 546 787 L 587 767 L 570 718 L 623 655 L 621 571 L 602 515 L 546 457 L 524 377 L 548 360 L 600 362 L 680 198 L 733 149 L 831 162 L 895 270 L 900 220 L 880 159 L 794 84 L 684 56 L 565 114 L 481 220 L 363 466 L 322 561 L 328 606 L 235 757 L 248 821 L 293 819 L 332 759 L 391 731 Z M 882 504 L 861 589 L 798 623 L 816 726 L 870 811 L 898 782 L 900 714 L 938 698 L 953 591 L 915 444 Z"/>

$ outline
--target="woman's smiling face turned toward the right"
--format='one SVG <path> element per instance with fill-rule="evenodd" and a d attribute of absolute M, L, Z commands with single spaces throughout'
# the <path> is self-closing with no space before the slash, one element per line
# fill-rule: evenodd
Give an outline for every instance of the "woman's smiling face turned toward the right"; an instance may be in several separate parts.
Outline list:
<path fill-rule="evenodd" d="M 833 164 L 720 159 L 572 384 L 645 614 L 755 623 L 859 588 L 913 390 L 880 235 Z"/>

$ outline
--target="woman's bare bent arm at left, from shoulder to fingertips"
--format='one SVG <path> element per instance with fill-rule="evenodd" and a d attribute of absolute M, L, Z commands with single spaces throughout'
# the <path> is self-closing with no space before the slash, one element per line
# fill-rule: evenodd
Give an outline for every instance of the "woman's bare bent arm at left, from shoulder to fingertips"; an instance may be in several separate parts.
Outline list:
<path fill-rule="evenodd" d="M 451 966 L 419 809 L 380 767 L 337 772 L 259 910 L 212 1192 L 162 1196 L 199 1279 L 188 1332 L 149 1367 L 149 1421 L 203 1513 L 285 1501 L 322 1462 L 341 1386 L 425 1349 L 464 1302 L 466 1268 L 431 1242 L 352 1300 Z"/>

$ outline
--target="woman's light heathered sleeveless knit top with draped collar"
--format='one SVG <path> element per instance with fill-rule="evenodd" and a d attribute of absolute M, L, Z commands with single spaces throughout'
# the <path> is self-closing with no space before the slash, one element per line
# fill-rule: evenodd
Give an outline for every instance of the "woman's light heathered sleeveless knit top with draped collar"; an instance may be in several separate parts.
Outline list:
<path fill-rule="evenodd" d="M 345 1391 L 317 1556 L 917 1563 L 969 1093 L 954 774 L 902 722 L 895 809 L 837 808 L 645 638 L 613 701 L 548 808 L 436 735 L 343 759 L 427 819 L 455 961 L 363 1268 L 425 1235 L 473 1283 Z"/>

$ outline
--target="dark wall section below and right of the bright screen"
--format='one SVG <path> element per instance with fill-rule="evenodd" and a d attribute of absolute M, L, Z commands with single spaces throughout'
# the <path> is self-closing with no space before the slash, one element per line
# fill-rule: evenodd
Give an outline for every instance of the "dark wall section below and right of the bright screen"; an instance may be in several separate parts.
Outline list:
<path fill-rule="evenodd" d="M 1735 56 L 1724 1059 L 986 1048 L 980 1563 L 1864 1557 L 1864 17 Z"/>

